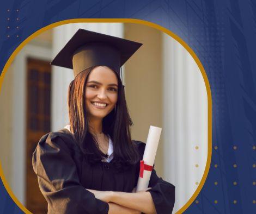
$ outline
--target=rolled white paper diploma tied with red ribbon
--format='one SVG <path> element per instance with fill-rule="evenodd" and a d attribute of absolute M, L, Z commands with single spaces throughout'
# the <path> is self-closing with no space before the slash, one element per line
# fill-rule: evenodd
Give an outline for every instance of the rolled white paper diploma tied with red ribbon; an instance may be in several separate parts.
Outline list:
<path fill-rule="evenodd" d="M 150 125 L 148 139 L 147 139 L 147 143 L 146 143 L 145 151 L 143 155 L 143 161 L 144 161 L 144 164 L 146 165 L 149 165 L 149 166 L 154 165 L 156 150 L 159 144 L 161 131 L 162 131 L 162 128 L 153 127 L 153 125 Z M 143 178 L 141 177 L 138 178 L 136 192 L 141 190 L 146 190 L 148 188 L 150 176 L 151 176 L 151 171 L 147 171 L 147 170 L 143 171 Z"/>

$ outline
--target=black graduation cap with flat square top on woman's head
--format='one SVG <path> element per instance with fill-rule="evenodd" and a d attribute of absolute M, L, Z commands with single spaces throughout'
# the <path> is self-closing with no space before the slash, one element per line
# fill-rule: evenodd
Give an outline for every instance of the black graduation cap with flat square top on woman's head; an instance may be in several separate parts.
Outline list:
<path fill-rule="evenodd" d="M 51 65 L 71 68 L 74 75 L 96 65 L 114 69 L 120 67 L 137 51 L 142 43 L 79 29 L 55 56 Z"/>

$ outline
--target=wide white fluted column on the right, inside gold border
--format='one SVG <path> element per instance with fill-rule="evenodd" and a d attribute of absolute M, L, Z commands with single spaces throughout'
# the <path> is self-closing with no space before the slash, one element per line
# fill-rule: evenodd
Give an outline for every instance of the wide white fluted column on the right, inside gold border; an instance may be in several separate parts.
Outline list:
<path fill-rule="evenodd" d="M 208 152 L 203 76 L 184 47 L 163 34 L 164 178 L 175 185 L 178 211 L 196 191 Z"/>

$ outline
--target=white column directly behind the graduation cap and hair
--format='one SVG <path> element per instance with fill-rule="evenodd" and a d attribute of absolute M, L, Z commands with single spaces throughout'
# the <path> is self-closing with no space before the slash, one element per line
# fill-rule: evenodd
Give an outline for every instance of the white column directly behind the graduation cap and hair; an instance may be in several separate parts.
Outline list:
<path fill-rule="evenodd" d="M 72 35 L 79 29 L 123 37 L 123 23 L 71 23 L 53 29 L 53 55 L 64 47 Z M 57 131 L 69 123 L 68 117 L 68 87 L 74 79 L 73 71 L 68 68 L 52 67 L 52 111 L 51 130 Z"/>

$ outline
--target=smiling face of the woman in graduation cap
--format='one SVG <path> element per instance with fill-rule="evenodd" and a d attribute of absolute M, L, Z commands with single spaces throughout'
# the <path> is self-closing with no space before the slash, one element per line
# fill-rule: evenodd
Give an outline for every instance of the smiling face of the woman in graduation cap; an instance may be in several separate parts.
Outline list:
<path fill-rule="evenodd" d="M 103 119 L 111 112 L 118 98 L 118 79 L 107 66 L 94 68 L 86 84 L 86 109 L 90 119 Z"/>

